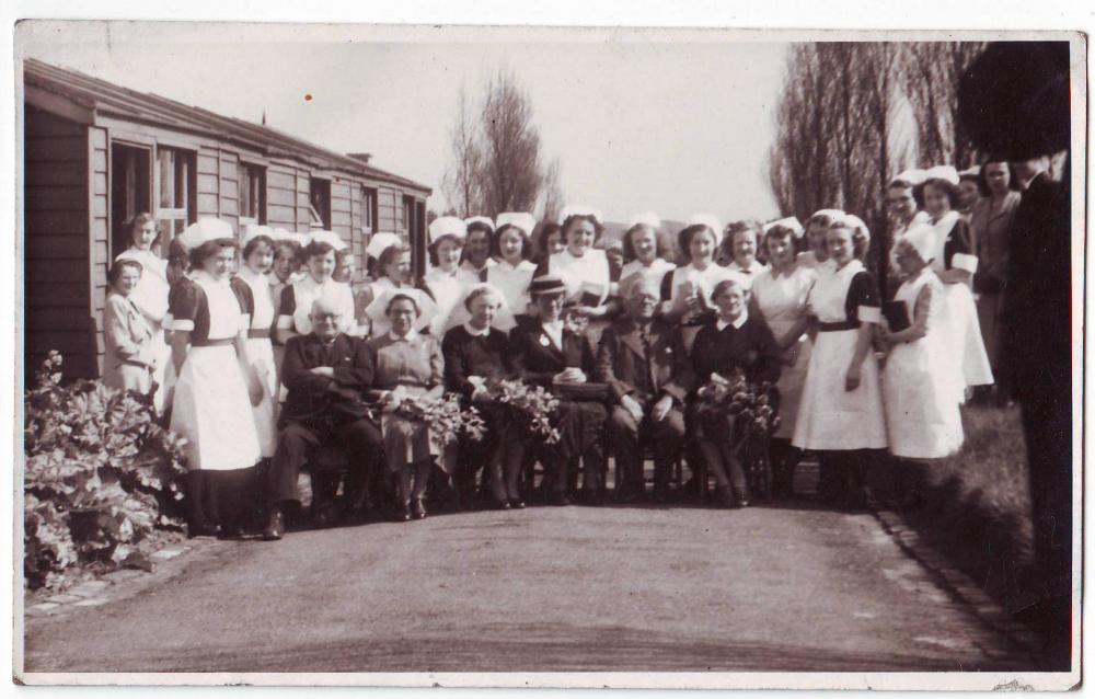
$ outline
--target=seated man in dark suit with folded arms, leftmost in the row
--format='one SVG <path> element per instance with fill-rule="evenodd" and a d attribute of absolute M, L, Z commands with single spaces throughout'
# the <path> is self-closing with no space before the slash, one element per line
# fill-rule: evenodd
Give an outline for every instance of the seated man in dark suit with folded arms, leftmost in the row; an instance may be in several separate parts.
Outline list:
<path fill-rule="evenodd" d="M 289 340 L 281 365 L 288 396 L 267 482 L 267 540 L 285 534 L 283 505 L 299 501 L 297 479 L 316 447 L 334 442 L 349 452 L 348 503 L 368 483 L 383 450 L 380 427 L 361 399 L 373 374 L 365 342 L 341 332 L 339 307 L 331 299 L 316 298 L 309 318 L 312 332 Z M 319 524 L 328 525 L 333 518 L 330 507 L 319 511 Z"/>

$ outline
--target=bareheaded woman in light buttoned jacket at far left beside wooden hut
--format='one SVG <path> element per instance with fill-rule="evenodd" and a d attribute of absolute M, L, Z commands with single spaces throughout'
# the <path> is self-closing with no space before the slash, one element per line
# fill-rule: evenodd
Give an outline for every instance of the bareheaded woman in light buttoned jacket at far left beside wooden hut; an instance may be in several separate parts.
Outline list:
<path fill-rule="evenodd" d="M 130 295 L 140 283 L 141 265 L 136 260 L 118 260 L 106 275 L 111 294 L 103 310 L 103 383 L 112 388 L 136 391 L 152 390 L 155 357 L 152 350 L 152 326 L 132 302 Z"/>

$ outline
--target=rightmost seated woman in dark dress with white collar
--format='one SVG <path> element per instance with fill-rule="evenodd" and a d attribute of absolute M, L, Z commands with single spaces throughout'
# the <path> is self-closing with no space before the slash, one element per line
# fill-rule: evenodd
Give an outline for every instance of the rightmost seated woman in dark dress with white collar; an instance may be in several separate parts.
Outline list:
<path fill-rule="evenodd" d="M 689 413 L 726 507 L 749 505 L 746 471 L 729 439 L 731 419 L 700 411 L 700 400 L 707 398 L 712 382 L 729 380 L 738 373 L 751 383 L 775 383 L 780 378 L 780 346 L 764 319 L 749 314 L 748 295 L 738 279 L 719 282 L 712 294 L 715 319 L 700 329 L 688 358 L 678 357 L 675 367 L 673 383 L 692 396 Z"/>

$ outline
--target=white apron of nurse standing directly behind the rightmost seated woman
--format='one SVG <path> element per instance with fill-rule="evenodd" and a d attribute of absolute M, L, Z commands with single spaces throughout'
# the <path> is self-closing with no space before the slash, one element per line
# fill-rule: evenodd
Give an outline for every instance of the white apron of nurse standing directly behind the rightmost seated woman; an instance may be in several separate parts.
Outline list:
<path fill-rule="evenodd" d="M 753 279 L 752 294 L 761 316 L 779 341 L 806 314 L 806 297 L 817 280 L 817 274 L 807 267 L 796 267 L 789 275 L 775 276 L 765 270 Z M 783 370 L 776 388 L 780 390 L 780 426 L 774 437 L 791 439 L 795 433 L 795 417 L 806 383 L 812 343 L 804 334 L 783 354 Z"/>

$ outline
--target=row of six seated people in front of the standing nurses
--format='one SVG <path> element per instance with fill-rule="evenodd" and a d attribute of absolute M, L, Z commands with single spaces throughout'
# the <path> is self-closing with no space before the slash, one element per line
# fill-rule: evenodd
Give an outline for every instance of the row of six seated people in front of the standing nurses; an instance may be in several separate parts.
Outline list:
<path fill-rule="evenodd" d="M 277 450 L 264 477 L 264 537 L 284 532 L 284 513 L 299 499 L 306 465 L 324 471 L 331 462 L 344 462 L 344 506 L 377 505 L 388 495 L 395 518 L 410 520 L 427 516 L 427 490 L 437 471 L 466 505 L 482 469 L 489 505 L 520 508 L 533 484 L 534 462 L 544 467 L 539 491 L 555 505 L 569 504 L 574 467 L 580 462 L 581 496 L 600 502 L 607 492 L 606 451 L 618 465 L 616 497 L 631 501 L 645 494 L 643 462 L 649 449 L 654 495 L 664 502 L 687 432 L 701 437 L 690 443 L 702 446 L 690 449 L 690 466 L 703 462 L 711 469 L 724 504 L 748 504 L 740 459 L 721 444 L 725 425 L 701 424 L 692 408 L 696 390 L 713 374 L 742 371 L 772 383 L 779 378 L 779 347 L 766 324 L 749 318 L 744 288 L 733 280 L 719 285 L 710 322 L 675 329 L 655 317 L 657 286 L 632 285 L 625 313 L 604 330 L 596 351 L 564 320 L 562 279 L 538 277 L 530 294 L 537 314 L 522 318 L 507 334 L 492 326 L 499 307 L 496 291 L 489 285 L 471 289 L 464 299 L 469 320 L 440 343 L 418 332 L 430 319 L 413 290 L 390 295 L 389 329 L 368 341 L 341 333 L 337 305 L 318 298 L 312 332 L 286 347 L 281 380 L 288 394 Z M 505 420 L 491 387 L 507 378 L 560 398 L 557 440 L 528 437 Z M 440 445 L 430 438 L 429 424 L 399 411 L 403 401 L 447 391 L 476 408 L 487 427 L 482 440 Z M 332 458 L 333 447 L 344 458 Z M 315 495 L 327 520 L 334 489 L 326 477 L 321 481 L 326 484 Z"/>

